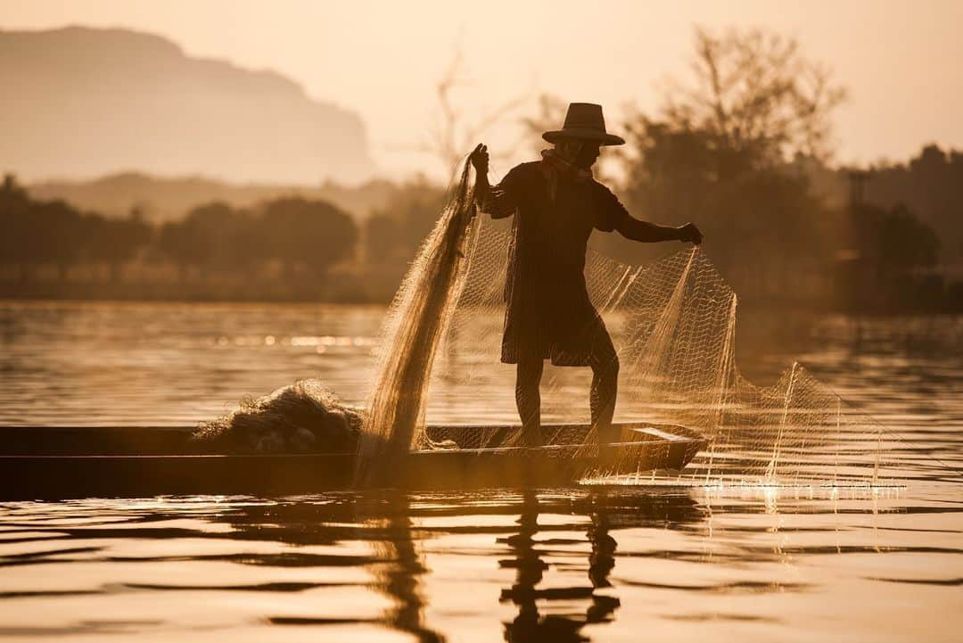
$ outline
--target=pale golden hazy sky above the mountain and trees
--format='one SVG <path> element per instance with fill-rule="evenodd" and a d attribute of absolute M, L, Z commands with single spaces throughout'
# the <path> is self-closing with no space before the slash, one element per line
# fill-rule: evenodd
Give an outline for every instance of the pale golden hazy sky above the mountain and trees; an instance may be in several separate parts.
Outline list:
<path fill-rule="evenodd" d="M 0 0 L 0 28 L 67 24 L 153 32 L 192 56 L 280 71 L 360 114 L 390 173 L 437 171 L 413 149 L 429 137 L 435 83 L 456 46 L 469 111 L 546 91 L 600 102 L 615 125 L 627 104 L 654 107 L 658 83 L 685 72 L 693 24 L 772 28 L 829 64 L 849 90 L 836 117 L 840 162 L 902 159 L 927 141 L 963 147 L 960 0 Z M 510 145 L 513 119 L 486 139 Z"/>

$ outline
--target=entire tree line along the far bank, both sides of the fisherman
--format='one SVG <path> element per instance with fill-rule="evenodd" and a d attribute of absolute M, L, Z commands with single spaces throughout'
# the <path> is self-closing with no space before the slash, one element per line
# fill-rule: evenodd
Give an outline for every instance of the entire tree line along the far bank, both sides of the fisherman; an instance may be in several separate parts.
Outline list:
<path fill-rule="evenodd" d="M 696 221 L 743 303 L 963 308 L 963 284 L 936 270 L 963 264 L 963 153 L 929 145 L 905 164 L 832 167 L 831 117 L 846 91 L 794 39 L 696 30 L 691 63 L 691 77 L 670 82 L 660 108 L 621 123 L 628 144 L 600 172 L 634 216 Z M 539 147 L 566 105 L 543 96 L 524 120 Z M 616 171 L 606 176 L 606 167 Z M 62 280 L 73 266 L 102 266 L 112 281 L 131 265 L 167 266 L 178 284 L 209 285 L 197 296 L 383 301 L 443 197 L 425 180 L 385 193 L 363 219 L 286 196 L 252 207 L 213 201 L 157 225 L 137 210 L 108 219 L 35 200 L 8 177 L 0 264 L 21 281 L 50 266 Z M 631 262 L 665 251 L 617 235 L 592 243 Z"/>

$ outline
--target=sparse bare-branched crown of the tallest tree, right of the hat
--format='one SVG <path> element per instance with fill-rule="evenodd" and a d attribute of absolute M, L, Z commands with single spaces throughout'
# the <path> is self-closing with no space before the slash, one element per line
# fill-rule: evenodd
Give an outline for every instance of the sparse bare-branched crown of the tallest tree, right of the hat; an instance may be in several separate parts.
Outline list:
<path fill-rule="evenodd" d="M 670 83 L 664 117 L 781 156 L 825 158 L 829 116 L 846 97 L 829 70 L 806 59 L 792 38 L 758 29 L 721 35 L 695 30 L 693 80 Z"/>

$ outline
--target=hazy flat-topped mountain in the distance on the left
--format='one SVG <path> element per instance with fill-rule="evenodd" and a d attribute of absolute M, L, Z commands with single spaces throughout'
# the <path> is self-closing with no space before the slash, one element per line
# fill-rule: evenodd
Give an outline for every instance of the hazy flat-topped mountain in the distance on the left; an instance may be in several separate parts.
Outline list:
<path fill-rule="evenodd" d="M 143 170 L 317 184 L 374 170 L 360 117 L 150 34 L 0 31 L 0 88 L 0 169 L 27 180 Z"/>

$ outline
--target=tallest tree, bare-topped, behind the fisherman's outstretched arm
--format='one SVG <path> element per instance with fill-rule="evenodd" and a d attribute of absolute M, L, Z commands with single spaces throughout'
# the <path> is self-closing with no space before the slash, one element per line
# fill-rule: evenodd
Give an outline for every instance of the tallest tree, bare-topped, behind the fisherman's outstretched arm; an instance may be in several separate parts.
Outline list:
<path fill-rule="evenodd" d="M 793 294 L 797 273 L 833 251 L 831 215 L 800 161 L 828 155 L 843 92 L 794 40 L 758 30 L 696 30 L 692 69 L 688 85 L 669 84 L 657 116 L 627 123 L 622 196 L 639 217 L 696 221 L 743 293 Z"/>

